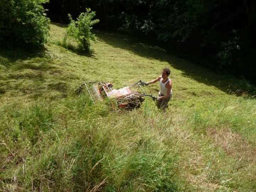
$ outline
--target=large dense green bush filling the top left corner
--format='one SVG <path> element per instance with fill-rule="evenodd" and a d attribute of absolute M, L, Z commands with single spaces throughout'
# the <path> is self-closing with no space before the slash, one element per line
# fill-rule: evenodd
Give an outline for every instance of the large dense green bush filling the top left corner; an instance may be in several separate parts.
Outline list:
<path fill-rule="evenodd" d="M 2 0 L 0 47 L 41 46 L 50 23 L 41 5 L 46 2 L 48 0 Z"/>

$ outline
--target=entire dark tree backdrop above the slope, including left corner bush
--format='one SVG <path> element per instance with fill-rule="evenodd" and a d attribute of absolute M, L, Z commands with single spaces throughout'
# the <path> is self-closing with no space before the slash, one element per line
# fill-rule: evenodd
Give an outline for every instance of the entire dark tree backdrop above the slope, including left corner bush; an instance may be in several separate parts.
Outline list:
<path fill-rule="evenodd" d="M 23 44 L 20 42 L 30 42 L 31 36 L 32 43 L 43 44 L 47 17 L 52 22 L 69 23 L 68 14 L 75 19 L 90 7 L 100 20 L 94 28 L 146 37 L 188 59 L 203 59 L 199 63 L 232 71 L 256 83 L 255 0 L 1 1 L 1 47 L 13 48 Z M 41 3 L 42 9 L 38 5 Z M 27 10 L 24 13 L 22 9 Z M 45 18 L 40 17 L 44 9 Z M 30 10 L 38 15 L 36 21 Z"/>

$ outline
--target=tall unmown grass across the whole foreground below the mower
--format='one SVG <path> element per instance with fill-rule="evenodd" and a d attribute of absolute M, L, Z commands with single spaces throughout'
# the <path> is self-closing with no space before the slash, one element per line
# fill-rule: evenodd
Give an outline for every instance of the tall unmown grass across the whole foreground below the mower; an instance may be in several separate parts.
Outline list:
<path fill-rule="evenodd" d="M 251 121 L 247 129 L 251 130 L 249 135 L 255 135 L 255 120 L 251 117 L 254 100 L 250 105 L 249 101 L 243 105 L 241 102 L 244 100 L 230 96 L 215 105 L 198 103 L 187 112 L 178 109 L 159 112 L 146 101 L 139 110 L 111 112 L 107 102 L 92 105 L 88 95 L 81 94 L 69 95 L 50 106 L 44 100 L 20 109 L 14 107 L 17 103 L 5 105 L 1 107 L 1 124 L 7 131 L 1 132 L 5 159 L 1 161 L 5 170 L 1 173 L 2 190 L 203 191 L 213 188 L 189 186 L 188 178 L 180 176 L 187 171 L 202 177 L 204 183 L 215 183 L 219 189 L 245 189 L 242 182 L 252 190 L 255 186 L 249 177 L 244 175 L 241 179 L 241 175 L 232 174 L 234 167 L 241 169 L 242 162 L 250 156 L 240 161 L 237 159 L 240 156 L 235 159 L 229 156 L 239 153 L 240 144 L 245 141 L 234 134 L 243 130 L 245 121 Z M 14 120 L 7 122 L 10 118 Z M 228 128 L 233 132 L 226 133 Z M 247 132 L 240 134 L 255 146 L 254 137 L 246 137 Z M 219 143 L 215 144 L 215 136 L 226 141 L 217 139 Z M 193 149 L 197 152 L 192 155 Z M 249 152 L 251 148 L 244 150 Z M 245 173 L 248 167 L 243 167 Z"/>

